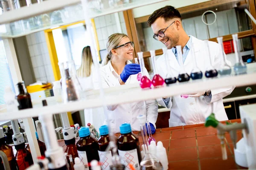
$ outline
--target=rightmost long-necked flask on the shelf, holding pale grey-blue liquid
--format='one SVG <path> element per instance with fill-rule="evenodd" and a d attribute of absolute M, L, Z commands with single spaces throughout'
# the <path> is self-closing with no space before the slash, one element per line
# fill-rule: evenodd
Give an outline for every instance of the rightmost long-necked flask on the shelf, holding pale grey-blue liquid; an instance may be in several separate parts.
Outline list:
<path fill-rule="evenodd" d="M 240 54 L 238 35 L 233 34 L 232 38 L 233 38 L 235 55 L 236 55 L 236 64 L 234 65 L 235 74 L 245 74 L 247 72 L 247 67 L 244 64 Z"/>

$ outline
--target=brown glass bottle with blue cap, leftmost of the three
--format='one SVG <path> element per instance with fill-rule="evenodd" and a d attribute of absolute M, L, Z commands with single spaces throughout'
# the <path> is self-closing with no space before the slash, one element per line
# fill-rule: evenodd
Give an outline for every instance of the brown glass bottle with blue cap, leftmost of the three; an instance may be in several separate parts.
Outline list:
<path fill-rule="evenodd" d="M 99 161 L 99 146 L 97 140 L 90 136 L 90 130 L 88 127 L 81 127 L 78 132 L 80 139 L 76 143 L 77 152 L 79 158 L 84 164 L 85 170 L 90 170 L 88 162 L 93 159 Z"/>

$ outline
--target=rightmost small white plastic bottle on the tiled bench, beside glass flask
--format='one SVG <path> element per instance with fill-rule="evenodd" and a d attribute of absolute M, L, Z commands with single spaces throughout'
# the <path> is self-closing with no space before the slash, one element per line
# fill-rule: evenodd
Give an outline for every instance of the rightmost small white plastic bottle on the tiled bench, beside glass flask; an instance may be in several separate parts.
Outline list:
<path fill-rule="evenodd" d="M 163 170 L 168 170 L 169 163 L 167 159 L 166 148 L 163 147 L 163 143 L 161 141 L 157 142 L 157 158 L 163 165 Z"/>

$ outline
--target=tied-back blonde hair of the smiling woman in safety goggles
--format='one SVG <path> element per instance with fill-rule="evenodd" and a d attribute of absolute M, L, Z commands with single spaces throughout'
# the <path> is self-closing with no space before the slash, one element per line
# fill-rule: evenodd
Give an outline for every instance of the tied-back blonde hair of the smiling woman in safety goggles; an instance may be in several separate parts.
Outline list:
<path fill-rule="evenodd" d="M 111 50 L 118 46 L 119 42 L 122 41 L 123 38 L 128 37 L 126 34 L 112 34 L 108 37 L 108 43 L 107 43 L 107 51 L 108 54 L 105 57 L 105 59 L 102 61 L 102 66 L 108 64 L 108 62 L 111 60 L 112 52 Z"/>

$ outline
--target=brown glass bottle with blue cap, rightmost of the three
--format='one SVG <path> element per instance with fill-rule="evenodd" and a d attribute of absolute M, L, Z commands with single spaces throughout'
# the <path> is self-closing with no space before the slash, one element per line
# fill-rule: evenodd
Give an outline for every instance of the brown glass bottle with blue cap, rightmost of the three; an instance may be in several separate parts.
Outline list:
<path fill-rule="evenodd" d="M 121 136 L 117 139 L 118 154 L 121 163 L 128 169 L 128 164 L 132 163 L 136 170 L 140 170 L 140 142 L 136 135 L 131 132 L 131 125 L 124 123 L 120 125 Z"/>

